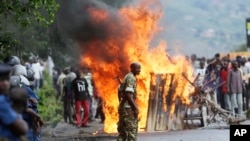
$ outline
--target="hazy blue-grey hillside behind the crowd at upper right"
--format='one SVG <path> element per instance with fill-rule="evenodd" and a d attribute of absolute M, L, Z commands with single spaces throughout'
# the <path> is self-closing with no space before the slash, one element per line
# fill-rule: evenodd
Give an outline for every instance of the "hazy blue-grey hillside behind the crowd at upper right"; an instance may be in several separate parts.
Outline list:
<path fill-rule="evenodd" d="M 212 56 L 246 43 L 248 0 L 161 0 L 165 30 L 158 37 L 187 55 Z M 171 51 L 172 53 L 174 51 Z M 176 51 L 175 51 L 176 52 Z"/>

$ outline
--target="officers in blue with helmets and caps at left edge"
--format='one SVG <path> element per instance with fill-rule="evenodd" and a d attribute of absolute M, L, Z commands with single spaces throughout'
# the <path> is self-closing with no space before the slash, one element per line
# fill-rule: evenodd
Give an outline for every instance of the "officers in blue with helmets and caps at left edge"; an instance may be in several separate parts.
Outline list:
<path fill-rule="evenodd" d="M 0 63 L 0 140 L 41 141 L 36 57 L 21 63 L 10 56 Z M 25 64 L 25 65 L 24 65 Z M 41 67 L 42 68 L 42 67 Z M 40 73 L 40 68 L 37 71 Z M 40 80 L 40 79 L 39 79 Z"/>

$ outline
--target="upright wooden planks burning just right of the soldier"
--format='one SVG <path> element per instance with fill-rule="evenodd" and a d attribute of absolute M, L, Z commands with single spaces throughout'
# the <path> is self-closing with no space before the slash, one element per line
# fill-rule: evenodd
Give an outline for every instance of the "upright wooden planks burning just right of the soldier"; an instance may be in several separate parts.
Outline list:
<path fill-rule="evenodd" d="M 183 129 L 181 100 L 173 101 L 178 86 L 175 74 L 151 74 L 146 131 Z M 174 113 L 170 113 L 175 107 Z"/>

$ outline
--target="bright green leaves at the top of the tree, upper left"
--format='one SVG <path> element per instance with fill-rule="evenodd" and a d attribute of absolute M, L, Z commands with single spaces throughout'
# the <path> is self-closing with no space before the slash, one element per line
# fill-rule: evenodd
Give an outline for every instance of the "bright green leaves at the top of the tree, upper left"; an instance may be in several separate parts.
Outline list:
<path fill-rule="evenodd" d="M 0 13 L 26 27 L 40 22 L 45 26 L 54 21 L 59 5 L 56 0 L 1 0 Z"/>

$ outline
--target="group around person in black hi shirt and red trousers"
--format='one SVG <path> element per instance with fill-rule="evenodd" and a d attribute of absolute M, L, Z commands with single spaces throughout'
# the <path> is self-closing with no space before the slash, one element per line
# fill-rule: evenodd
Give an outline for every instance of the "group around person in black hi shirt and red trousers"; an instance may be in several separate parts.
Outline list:
<path fill-rule="evenodd" d="M 89 127 L 89 122 L 100 118 L 104 123 L 103 101 L 91 76 L 89 68 L 54 69 L 54 88 L 58 99 L 63 101 L 65 123 L 76 127 Z"/>

